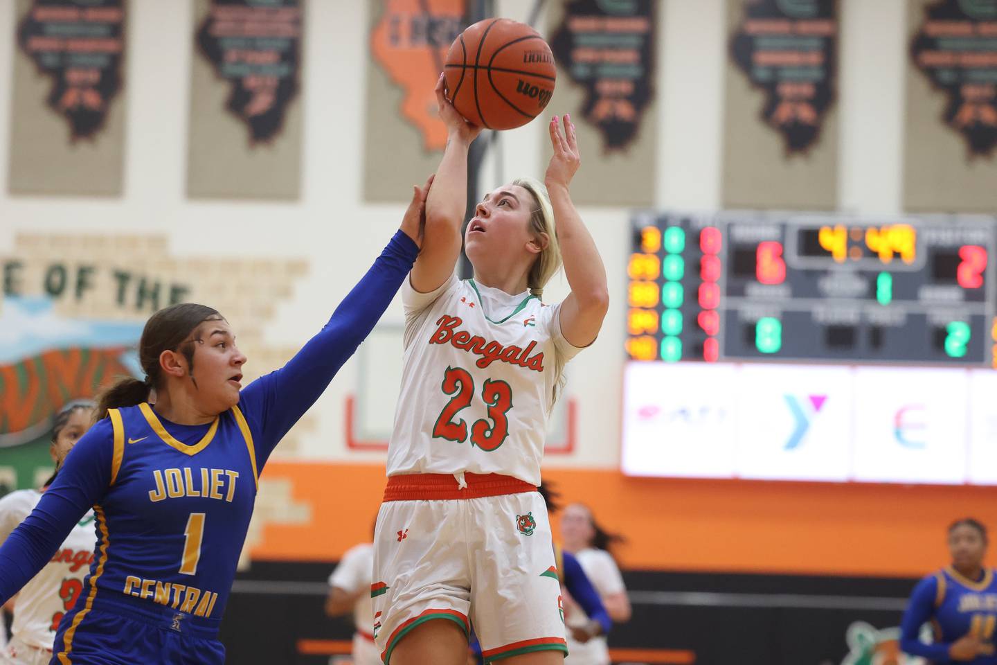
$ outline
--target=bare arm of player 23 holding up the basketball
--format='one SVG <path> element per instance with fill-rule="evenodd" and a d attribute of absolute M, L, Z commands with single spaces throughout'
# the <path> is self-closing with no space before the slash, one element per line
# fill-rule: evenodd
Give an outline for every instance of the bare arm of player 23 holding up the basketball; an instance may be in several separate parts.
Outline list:
<path fill-rule="evenodd" d="M 446 282 L 461 255 L 461 226 L 468 207 L 468 151 L 482 131 L 447 101 L 444 81 L 441 74 L 436 95 L 440 118 L 447 125 L 447 148 L 426 201 L 426 235 L 411 276 L 412 287 L 421 293 Z"/>

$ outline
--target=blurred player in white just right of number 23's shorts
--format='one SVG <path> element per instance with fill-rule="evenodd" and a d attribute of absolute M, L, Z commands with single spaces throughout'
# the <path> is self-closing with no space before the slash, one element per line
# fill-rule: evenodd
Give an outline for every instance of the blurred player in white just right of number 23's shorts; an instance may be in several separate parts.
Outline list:
<path fill-rule="evenodd" d="M 619 567 L 609 551 L 613 543 L 623 540 L 622 536 L 599 526 L 591 510 L 582 503 L 571 503 L 564 508 L 560 527 L 564 550 L 578 559 L 582 570 L 599 592 L 609 617 L 616 623 L 629 621 L 630 600 Z M 576 639 L 577 629 L 591 625 L 590 617 L 577 605 L 565 603 L 564 621 L 568 629 L 565 665 L 609 665 L 609 647 L 605 636 L 597 635 L 587 642 Z"/>

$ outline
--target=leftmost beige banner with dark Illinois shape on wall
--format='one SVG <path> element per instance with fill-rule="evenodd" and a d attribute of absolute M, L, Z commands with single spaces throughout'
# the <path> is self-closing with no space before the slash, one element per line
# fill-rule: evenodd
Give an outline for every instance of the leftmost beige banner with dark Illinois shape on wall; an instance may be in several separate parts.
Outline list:
<path fill-rule="evenodd" d="M 19 0 L 17 9 L 10 191 L 120 194 L 125 0 Z"/>

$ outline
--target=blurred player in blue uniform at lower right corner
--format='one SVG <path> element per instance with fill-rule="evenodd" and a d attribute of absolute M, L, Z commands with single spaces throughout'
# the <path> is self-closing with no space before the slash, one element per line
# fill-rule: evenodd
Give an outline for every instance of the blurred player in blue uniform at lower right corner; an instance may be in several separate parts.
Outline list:
<path fill-rule="evenodd" d="M 932 663 L 997 665 L 997 579 L 983 565 L 986 527 L 966 518 L 948 527 L 952 564 L 918 582 L 900 624 L 900 649 Z M 918 632 L 925 622 L 934 629 L 934 643 L 924 644 Z"/>

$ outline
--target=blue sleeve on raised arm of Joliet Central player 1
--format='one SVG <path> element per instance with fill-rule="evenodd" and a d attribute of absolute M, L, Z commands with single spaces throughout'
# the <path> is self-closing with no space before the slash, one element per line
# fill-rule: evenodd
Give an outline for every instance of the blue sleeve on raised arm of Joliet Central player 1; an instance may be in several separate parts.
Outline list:
<path fill-rule="evenodd" d="M 287 431 L 315 403 L 388 309 L 412 270 L 419 247 L 402 231 L 363 279 L 339 303 L 332 318 L 281 369 L 246 386 L 239 407 L 259 428 L 257 462 L 262 468 Z"/>

